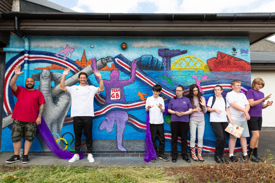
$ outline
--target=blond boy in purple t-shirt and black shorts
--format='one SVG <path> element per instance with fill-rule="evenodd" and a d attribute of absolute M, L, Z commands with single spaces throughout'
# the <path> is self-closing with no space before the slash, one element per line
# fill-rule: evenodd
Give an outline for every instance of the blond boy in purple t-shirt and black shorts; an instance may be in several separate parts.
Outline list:
<path fill-rule="evenodd" d="M 264 81 L 261 78 L 255 78 L 251 84 L 252 89 L 246 92 L 246 98 L 251 106 L 248 111 L 250 120 L 247 120 L 247 125 L 252 132 L 248 156 L 253 162 L 265 161 L 258 155 L 258 143 L 262 129 L 262 109 L 271 106 L 273 103 L 273 101 L 267 101 L 267 104 L 264 104 L 265 100 L 269 99 L 271 94 L 264 97 L 264 93 L 259 91 L 259 89 L 263 87 Z"/>

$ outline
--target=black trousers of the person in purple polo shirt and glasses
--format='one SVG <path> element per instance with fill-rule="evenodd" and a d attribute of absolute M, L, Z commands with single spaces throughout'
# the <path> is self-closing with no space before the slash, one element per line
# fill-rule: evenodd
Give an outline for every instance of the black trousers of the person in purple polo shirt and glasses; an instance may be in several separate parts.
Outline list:
<path fill-rule="evenodd" d="M 181 137 L 181 156 L 184 158 L 187 156 L 187 132 L 189 129 L 189 122 L 171 122 L 171 155 L 172 158 L 178 157 L 178 148 L 177 148 L 177 142 L 178 142 L 178 133 L 180 133 Z"/>

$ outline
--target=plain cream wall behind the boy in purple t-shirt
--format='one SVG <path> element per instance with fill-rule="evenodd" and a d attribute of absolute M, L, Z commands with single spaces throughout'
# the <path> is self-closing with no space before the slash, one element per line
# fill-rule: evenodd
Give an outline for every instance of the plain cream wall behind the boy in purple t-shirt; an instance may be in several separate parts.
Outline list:
<path fill-rule="evenodd" d="M 261 89 L 261 92 L 264 92 L 265 96 L 272 94 L 271 98 L 269 100 L 273 100 L 275 102 L 275 88 L 274 88 L 274 82 L 275 82 L 275 71 L 251 71 L 251 81 L 255 79 L 256 77 L 260 77 L 264 80 L 265 86 L 263 89 Z M 266 102 L 265 102 L 266 104 Z M 265 109 L 263 109 L 263 124 L 264 127 L 275 127 L 274 119 L 275 119 L 275 113 L 274 113 L 274 104 L 272 106 L 269 106 Z"/>

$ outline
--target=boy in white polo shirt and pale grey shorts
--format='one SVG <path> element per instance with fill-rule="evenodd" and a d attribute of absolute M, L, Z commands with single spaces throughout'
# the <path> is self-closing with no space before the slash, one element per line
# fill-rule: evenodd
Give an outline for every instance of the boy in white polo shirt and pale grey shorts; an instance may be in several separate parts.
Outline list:
<path fill-rule="evenodd" d="M 243 150 L 243 162 L 249 160 L 247 156 L 247 142 L 246 137 L 249 137 L 249 131 L 247 126 L 247 120 L 250 119 L 248 111 L 250 109 L 250 104 L 246 99 L 245 94 L 240 93 L 241 91 L 241 81 L 234 80 L 231 82 L 232 91 L 226 94 L 226 106 L 229 108 L 232 121 L 243 129 L 243 134 L 240 137 L 241 149 Z M 229 159 L 237 163 L 239 160 L 233 156 L 234 148 L 236 144 L 237 137 L 230 134 L 228 146 L 229 146 Z"/>

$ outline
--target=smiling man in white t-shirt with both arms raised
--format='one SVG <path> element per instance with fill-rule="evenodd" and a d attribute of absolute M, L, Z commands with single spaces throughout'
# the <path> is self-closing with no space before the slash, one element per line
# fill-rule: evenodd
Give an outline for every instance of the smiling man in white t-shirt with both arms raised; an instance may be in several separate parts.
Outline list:
<path fill-rule="evenodd" d="M 81 134 L 84 128 L 86 136 L 86 146 L 88 151 L 89 162 L 95 162 L 92 152 L 93 139 L 92 139 L 92 129 L 93 121 L 92 116 L 94 115 L 94 96 L 104 91 L 104 85 L 102 81 L 101 74 L 98 70 L 94 70 L 94 74 L 99 78 L 99 87 L 89 86 L 86 81 L 88 75 L 85 72 L 80 72 L 78 74 L 79 85 L 65 86 L 66 75 L 70 73 L 70 69 L 67 68 L 62 74 L 62 79 L 60 81 L 60 89 L 64 92 L 69 92 L 72 98 L 71 106 L 71 117 L 74 118 L 74 147 L 75 154 L 69 160 L 70 163 L 79 160 L 79 151 L 81 146 Z"/>

